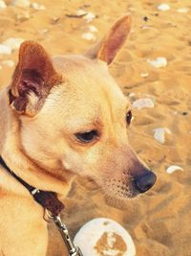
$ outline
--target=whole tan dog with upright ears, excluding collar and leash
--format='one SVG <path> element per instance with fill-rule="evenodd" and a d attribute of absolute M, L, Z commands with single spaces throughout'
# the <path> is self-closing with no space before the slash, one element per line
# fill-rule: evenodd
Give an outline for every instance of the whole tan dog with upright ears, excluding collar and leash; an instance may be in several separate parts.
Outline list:
<path fill-rule="evenodd" d="M 62 195 L 74 175 L 95 179 L 116 198 L 154 185 L 128 143 L 130 105 L 107 66 L 129 30 L 126 15 L 83 56 L 51 59 L 36 42 L 21 45 L 11 86 L 0 93 L 0 155 L 16 175 Z M 45 256 L 43 209 L 2 166 L 0 209 L 0 255 Z"/>

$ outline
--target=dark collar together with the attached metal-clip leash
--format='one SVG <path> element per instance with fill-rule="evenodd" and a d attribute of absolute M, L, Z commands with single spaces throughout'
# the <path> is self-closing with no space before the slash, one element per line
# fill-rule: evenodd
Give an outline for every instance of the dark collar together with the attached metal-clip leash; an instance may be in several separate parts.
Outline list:
<path fill-rule="evenodd" d="M 30 192 L 37 203 L 47 210 L 49 218 L 54 222 L 61 234 L 64 244 L 68 249 L 69 256 L 83 256 L 79 247 L 74 245 L 67 226 L 61 221 L 60 213 L 64 209 L 64 204 L 57 198 L 56 193 L 32 187 L 25 180 L 11 171 L 2 156 L 0 156 L 0 165 Z"/>

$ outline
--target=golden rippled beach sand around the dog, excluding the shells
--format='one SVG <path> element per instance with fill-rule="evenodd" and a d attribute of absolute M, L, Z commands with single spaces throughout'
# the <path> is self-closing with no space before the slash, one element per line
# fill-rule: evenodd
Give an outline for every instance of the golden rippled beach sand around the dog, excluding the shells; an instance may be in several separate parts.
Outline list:
<path fill-rule="evenodd" d="M 96 217 L 111 218 L 131 234 L 138 256 L 191 255 L 191 10 L 190 0 L 166 1 L 170 10 L 161 12 L 161 1 L 82 1 L 38 0 L 46 11 L 16 8 L 0 10 L 0 43 L 10 37 L 33 39 L 42 43 L 52 55 L 81 53 L 93 43 L 82 38 L 88 26 L 94 25 L 100 38 L 111 24 L 125 12 L 131 12 L 133 25 L 125 47 L 110 70 L 119 86 L 131 100 L 150 98 L 153 108 L 134 109 L 130 142 L 139 156 L 156 172 L 158 182 L 147 194 L 115 204 L 101 191 L 76 178 L 65 198 L 63 220 L 74 236 L 86 222 Z M 69 17 L 77 9 L 96 14 L 87 23 L 83 18 Z M 0 61 L 17 59 L 0 55 Z M 165 67 L 156 68 L 147 59 L 163 57 Z M 9 84 L 13 67 L 1 64 L 0 86 Z M 147 74 L 141 77 L 141 74 Z M 132 97 L 132 93 L 133 95 Z M 164 144 L 153 137 L 153 129 L 168 128 Z M 170 165 L 183 171 L 166 173 Z M 118 208 L 117 208 L 118 207 Z M 50 226 L 49 255 L 61 256 L 62 243 Z"/>

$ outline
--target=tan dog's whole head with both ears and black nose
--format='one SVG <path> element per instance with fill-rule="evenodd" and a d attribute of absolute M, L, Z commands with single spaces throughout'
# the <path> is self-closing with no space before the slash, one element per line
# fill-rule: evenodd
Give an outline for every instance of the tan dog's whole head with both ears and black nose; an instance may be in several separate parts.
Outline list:
<path fill-rule="evenodd" d="M 83 56 L 51 59 L 39 44 L 24 42 L 9 91 L 23 151 L 34 162 L 59 178 L 92 177 L 117 198 L 135 197 L 156 181 L 129 145 L 131 106 L 108 72 L 129 31 L 126 15 Z"/>

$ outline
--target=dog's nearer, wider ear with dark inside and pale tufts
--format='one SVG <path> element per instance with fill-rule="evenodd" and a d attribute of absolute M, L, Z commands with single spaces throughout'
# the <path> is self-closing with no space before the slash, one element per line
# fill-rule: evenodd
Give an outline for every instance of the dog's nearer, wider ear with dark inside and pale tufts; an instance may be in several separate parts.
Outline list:
<path fill-rule="evenodd" d="M 44 104 L 53 85 L 62 77 L 54 68 L 51 58 L 36 42 L 21 44 L 19 61 L 12 76 L 9 101 L 19 114 L 34 116 Z"/>

